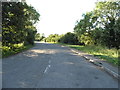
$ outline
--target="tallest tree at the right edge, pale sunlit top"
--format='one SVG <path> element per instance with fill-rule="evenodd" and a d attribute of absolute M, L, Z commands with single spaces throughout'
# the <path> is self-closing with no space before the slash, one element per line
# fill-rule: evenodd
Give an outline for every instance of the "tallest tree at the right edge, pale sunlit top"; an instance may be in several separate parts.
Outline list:
<path fill-rule="evenodd" d="M 103 41 L 105 45 L 109 48 L 116 47 L 119 48 L 120 43 L 118 44 L 120 32 L 118 27 L 119 21 L 119 11 L 120 2 L 98 2 L 96 5 L 95 13 L 99 15 L 99 23 L 103 26 Z"/>

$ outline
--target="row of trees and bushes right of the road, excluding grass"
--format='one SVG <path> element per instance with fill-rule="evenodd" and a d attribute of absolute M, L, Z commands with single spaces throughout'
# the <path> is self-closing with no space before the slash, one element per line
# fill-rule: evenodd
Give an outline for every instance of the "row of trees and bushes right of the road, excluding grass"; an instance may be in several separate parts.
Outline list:
<path fill-rule="evenodd" d="M 83 14 L 76 22 L 74 33 L 50 35 L 48 42 L 101 45 L 120 48 L 120 2 L 98 2 L 96 8 Z"/>

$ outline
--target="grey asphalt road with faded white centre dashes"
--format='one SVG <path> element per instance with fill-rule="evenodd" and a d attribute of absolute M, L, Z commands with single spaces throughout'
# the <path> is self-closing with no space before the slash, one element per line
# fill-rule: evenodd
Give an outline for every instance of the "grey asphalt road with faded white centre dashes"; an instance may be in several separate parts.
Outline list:
<path fill-rule="evenodd" d="M 56 44 L 36 43 L 2 65 L 3 88 L 118 88 L 116 79 Z"/>

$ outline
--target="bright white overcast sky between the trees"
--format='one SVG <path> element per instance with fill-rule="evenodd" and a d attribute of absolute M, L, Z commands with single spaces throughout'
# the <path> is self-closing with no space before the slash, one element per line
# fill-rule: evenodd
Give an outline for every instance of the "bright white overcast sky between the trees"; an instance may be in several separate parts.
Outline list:
<path fill-rule="evenodd" d="M 26 0 L 40 13 L 38 33 L 65 34 L 73 32 L 82 14 L 92 11 L 97 0 Z"/>

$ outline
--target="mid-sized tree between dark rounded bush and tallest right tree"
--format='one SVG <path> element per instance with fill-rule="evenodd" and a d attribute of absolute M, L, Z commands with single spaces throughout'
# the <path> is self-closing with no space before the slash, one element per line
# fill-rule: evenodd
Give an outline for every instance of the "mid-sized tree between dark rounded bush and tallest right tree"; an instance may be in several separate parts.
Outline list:
<path fill-rule="evenodd" d="M 94 44 L 92 31 L 95 29 L 97 17 L 94 12 L 87 12 L 83 14 L 81 19 L 74 27 L 74 32 L 78 36 L 79 42 L 86 45 Z"/>

